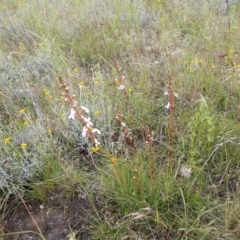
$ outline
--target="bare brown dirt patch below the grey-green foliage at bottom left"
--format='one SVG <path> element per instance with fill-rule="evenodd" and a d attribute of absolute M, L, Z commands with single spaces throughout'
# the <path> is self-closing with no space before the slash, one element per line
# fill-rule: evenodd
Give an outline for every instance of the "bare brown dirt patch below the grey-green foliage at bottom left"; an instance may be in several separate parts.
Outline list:
<path fill-rule="evenodd" d="M 25 233 L 1 236 L 0 240 L 41 240 L 33 232 L 38 232 L 31 217 L 23 204 L 16 204 L 16 200 L 9 200 L 7 214 L 0 225 L 5 234 L 26 231 Z M 59 194 L 52 194 L 45 204 L 28 202 L 32 216 L 36 220 L 45 239 L 47 240 L 88 240 L 88 216 L 91 212 L 86 198 L 75 196 L 64 198 Z M 0 226 L 1 227 L 1 226 Z M 32 231 L 32 232 L 27 232 Z M 2 237 L 2 238 L 1 238 Z"/>

